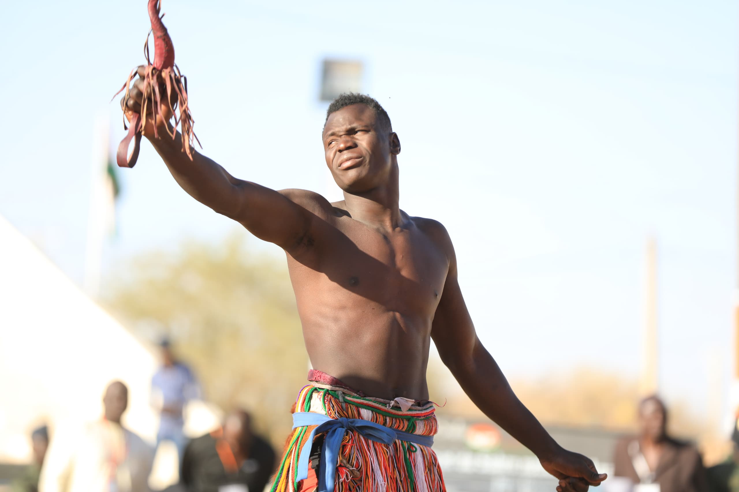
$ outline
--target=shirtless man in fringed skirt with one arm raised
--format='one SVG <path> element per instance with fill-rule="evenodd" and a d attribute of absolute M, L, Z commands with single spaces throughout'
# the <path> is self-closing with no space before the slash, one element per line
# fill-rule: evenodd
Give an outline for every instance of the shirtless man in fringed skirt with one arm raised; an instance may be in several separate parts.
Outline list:
<path fill-rule="evenodd" d="M 143 76 L 143 67 L 139 76 Z M 143 81 L 138 78 L 123 107 L 129 120 L 133 112 L 140 111 L 142 89 Z M 309 491 L 314 490 L 312 485 L 319 485 L 321 491 L 335 488 L 340 492 L 350 489 L 345 485 L 347 480 L 364 480 L 367 490 L 374 490 L 371 485 L 377 482 L 372 480 L 395 481 L 392 490 L 444 490 L 432 451 L 423 448 L 422 453 L 408 453 L 404 447 L 412 447 L 407 443 L 426 445 L 426 441 L 415 439 L 435 432 L 435 420 L 426 421 L 432 413 L 426 403 L 426 364 L 432 338 L 441 360 L 471 400 L 537 455 L 545 470 L 559 479 L 558 492 L 586 491 L 588 485 L 598 485 L 606 478 L 597 473 L 590 459 L 566 451 L 551 438 L 511 391 L 497 363 L 480 344 L 457 283 L 457 259 L 446 229 L 435 220 L 409 216 L 398 208 L 401 142 L 377 101 L 364 95 L 342 95 L 328 108 L 323 131 L 325 159 L 344 191 L 344 200 L 335 203 L 312 191 L 274 191 L 239 180 L 197 152 L 190 160 L 182 151 L 180 134 L 172 140 L 160 130 L 160 137 L 154 137 L 152 118 L 147 122 L 144 135 L 191 197 L 285 250 L 305 346 L 313 367 L 321 371 L 320 377 L 313 377 L 315 388 L 328 395 L 320 409 L 316 408 L 316 394 L 303 394 L 310 393 L 310 389 L 305 390 L 299 396 L 298 410 L 311 418 L 324 412 L 333 419 L 358 417 L 407 431 L 395 441 L 390 439 L 392 444 L 381 444 L 364 439 L 353 427 L 350 442 L 361 440 L 369 450 L 365 461 L 355 456 L 356 452 L 350 457 L 344 448 L 339 459 L 334 454 L 325 464 L 325 454 L 320 454 L 319 470 L 313 469 L 311 460 L 307 472 L 311 477 L 301 485 L 293 484 L 293 474 L 296 480 L 305 479 L 304 455 L 310 454 L 313 444 L 308 442 L 301 448 L 305 436 L 300 431 L 307 421 L 301 424 L 296 420 L 297 444 L 288 446 L 282 465 L 287 468 L 278 471 L 273 491 L 291 487 Z M 156 123 L 170 125 L 164 120 Z M 334 400 L 341 400 L 341 404 L 334 406 Z M 366 410 L 372 402 L 383 403 L 378 409 L 391 410 L 370 414 Z M 401 406 L 406 408 L 392 413 L 392 407 L 403 402 Z M 365 412 L 356 410 L 355 403 Z M 412 423 L 403 420 L 406 413 L 414 417 Z M 421 426 L 421 420 L 428 425 Z M 311 420 L 307 425 L 318 423 Z M 318 434 L 324 428 L 319 428 Z M 324 446 L 330 447 L 330 432 L 325 439 Z M 395 454 L 405 453 L 406 465 L 411 462 L 409 457 L 416 461 L 406 468 L 398 458 L 394 467 L 379 471 L 377 466 L 372 471 L 367 465 L 368 479 L 363 466 L 367 461 L 377 465 L 372 460 L 383 451 L 376 446 L 383 445 L 394 447 Z M 313 456 L 315 453 L 313 447 Z M 344 471 L 335 481 L 334 474 L 339 473 L 336 462 Z M 316 484 L 316 473 L 320 484 Z M 373 478 L 372 474 L 382 477 Z M 418 485 L 423 476 L 425 486 Z M 361 487 L 355 485 L 352 490 Z M 387 490 L 391 490 L 389 484 Z"/>

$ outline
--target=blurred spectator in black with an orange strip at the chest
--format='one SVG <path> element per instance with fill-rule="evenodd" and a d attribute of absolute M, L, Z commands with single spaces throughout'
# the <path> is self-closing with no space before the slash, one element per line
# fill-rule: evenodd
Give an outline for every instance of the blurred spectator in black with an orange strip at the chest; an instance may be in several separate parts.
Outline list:
<path fill-rule="evenodd" d="M 275 453 L 252 433 L 249 414 L 234 411 L 222 428 L 185 448 L 182 485 L 189 492 L 262 492 L 274 465 Z"/>

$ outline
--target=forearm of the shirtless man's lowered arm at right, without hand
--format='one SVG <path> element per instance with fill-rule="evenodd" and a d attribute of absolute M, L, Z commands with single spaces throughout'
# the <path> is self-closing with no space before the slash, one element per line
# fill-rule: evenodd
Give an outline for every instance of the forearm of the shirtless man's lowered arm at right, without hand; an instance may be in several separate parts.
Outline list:
<path fill-rule="evenodd" d="M 559 445 L 521 403 L 488 351 L 477 341 L 469 361 L 452 368 L 454 377 L 484 414 L 529 448 L 548 459 Z"/>

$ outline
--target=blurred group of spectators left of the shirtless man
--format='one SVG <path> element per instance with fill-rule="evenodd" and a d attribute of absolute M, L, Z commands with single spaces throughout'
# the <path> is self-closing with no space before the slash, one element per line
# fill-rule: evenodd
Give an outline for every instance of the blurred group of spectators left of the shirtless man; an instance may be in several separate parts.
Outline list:
<path fill-rule="evenodd" d="M 103 415 L 81 429 L 64 429 L 50 438 L 46 426 L 31 434 L 33 463 L 13 482 L 13 492 L 149 492 L 154 457 L 166 441 L 177 449 L 179 481 L 166 492 L 262 492 L 275 468 L 275 452 L 253 432 L 243 409 L 226 414 L 222 424 L 200 437 L 185 437 L 184 409 L 200 397 L 187 364 L 160 343 L 162 364 L 151 378 L 151 405 L 160 423 L 154 447 L 126 428 L 121 419 L 129 390 L 113 381 L 103 392 Z"/>

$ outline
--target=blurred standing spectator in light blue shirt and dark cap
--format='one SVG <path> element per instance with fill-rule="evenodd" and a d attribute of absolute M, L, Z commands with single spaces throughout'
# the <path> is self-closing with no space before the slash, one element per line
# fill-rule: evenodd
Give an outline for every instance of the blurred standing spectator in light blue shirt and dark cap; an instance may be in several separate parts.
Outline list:
<path fill-rule="evenodd" d="M 160 413 L 157 448 L 162 441 L 171 441 L 177 446 L 178 459 L 182 462 L 187 444 L 183 434 L 183 409 L 188 400 L 199 397 L 200 389 L 190 368 L 174 358 L 168 339 L 163 339 L 159 345 L 162 366 L 151 378 L 151 404 Z"/>

